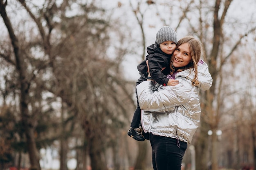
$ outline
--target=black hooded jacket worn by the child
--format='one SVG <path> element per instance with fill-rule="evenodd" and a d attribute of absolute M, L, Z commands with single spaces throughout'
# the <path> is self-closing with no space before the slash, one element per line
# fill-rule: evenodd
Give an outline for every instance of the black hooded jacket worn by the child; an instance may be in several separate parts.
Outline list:
<path fill-rule="evenodd" d="M 152 44 L 147 48 L 148 55 L 146 56 L 146 60 L 148 60 L 150 76 L 154 81 L 159 84 L 166 84 L 168 83 L 169 78 L 166 75 L 170 74 L 170 59 L 171 54 L 165 54 L 162 52 L 157 44 Z M 148 76 L 148 68 L 146 64 L 146 60 L 139 63 L 137 66 L 141 76 Z M 162 68 L 165 69 L 163 71 Z"/>

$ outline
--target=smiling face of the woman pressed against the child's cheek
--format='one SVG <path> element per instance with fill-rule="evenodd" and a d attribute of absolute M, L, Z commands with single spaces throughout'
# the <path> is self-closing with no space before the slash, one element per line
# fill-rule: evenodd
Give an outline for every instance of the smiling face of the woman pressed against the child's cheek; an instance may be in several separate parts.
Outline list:
<path fill-rule="evenodd" d="M 184 43 L 173 52 L 173 66 L 176 68 L 184 67 L 192 61 L 188 43 Z"/>

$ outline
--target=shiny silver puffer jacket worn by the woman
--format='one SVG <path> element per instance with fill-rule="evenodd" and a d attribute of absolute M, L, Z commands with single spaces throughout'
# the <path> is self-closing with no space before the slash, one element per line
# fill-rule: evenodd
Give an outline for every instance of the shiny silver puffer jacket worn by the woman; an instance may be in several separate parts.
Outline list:
<path fill-rule="evenodd" d="M 198 87 L 192 86 L 193 78 L 194 72 L 185 70 L 175 75 L 179 80 L 176 86 L 163 86 L 153 81 L 137 85 L 145 132 L 191 142 L 200 122 L 199 89 L 208 90 L 212 85 L 206 63 L 198 65 Z"/>

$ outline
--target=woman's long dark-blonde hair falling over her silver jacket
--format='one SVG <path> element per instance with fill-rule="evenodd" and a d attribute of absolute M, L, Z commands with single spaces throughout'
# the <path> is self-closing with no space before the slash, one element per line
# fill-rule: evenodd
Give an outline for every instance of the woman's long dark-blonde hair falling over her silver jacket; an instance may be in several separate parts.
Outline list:
<path fill-rule="evenodd" d="M 178 41 L 176 48 L 179 47 L 180 45 L 184 44 L 184 43 L 189 44 L 190 53 L 191 53 L 191 57 L 192 57 L 191 62 L 189 62 L 188 65 L 186 65 L 182 68 L 175 68 L 173 66 L 174 57 L 172 56 L 171 61 L 170 61 L 170 68 L 171 68 L 170 74 L 173 74 L 174 72 L 182 72 L 184 70 L 193 68 L 193 71 L 195 72 L 195 77 L 192 80 L 192 85 L 196 86 L 196 85 L 199 84 L 199 81 L 198 81 L 198 62 L 199 62 L 200 57 L 201 57 L 202 45 L 201 45 L 201 42 L 198 39 L 195 39 L 193 36 L 186 36 L 186 37 L 183 37 L 182 39 L 180 39 Z"/>

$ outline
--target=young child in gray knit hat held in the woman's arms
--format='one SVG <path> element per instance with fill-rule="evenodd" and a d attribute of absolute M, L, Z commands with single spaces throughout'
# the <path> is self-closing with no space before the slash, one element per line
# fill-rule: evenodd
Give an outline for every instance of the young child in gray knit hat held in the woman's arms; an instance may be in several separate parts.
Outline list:
<path fill-rule="evenodd" d="M 155 80 L 157 83 L 162 85 L 177 85 L 178 81 L 167 78 L 170 74 L 170 59 L 177 44 L 177 34 L 173 28 L 169 26 L 163 26 L 157 31 L 155 44 L 148 46 L 148 55 L 146 59 L 138 65 L 139 74 L 141 75 L 138 79 L 136 86 L 141 82 L 146 81 L 147 78 Z M 148 77 L 148 67 L 150 76 Z M 142 136 L 142 129 L 139 126 L 141 118 L 141 109 L 139 107 L 137 90 L 135 89 L 137 97 L 137 109 L 134 112 L 130 129 L 127 134 L 135 140 L 144 141 L 145 138 Z"/>

